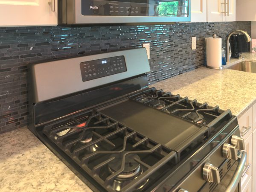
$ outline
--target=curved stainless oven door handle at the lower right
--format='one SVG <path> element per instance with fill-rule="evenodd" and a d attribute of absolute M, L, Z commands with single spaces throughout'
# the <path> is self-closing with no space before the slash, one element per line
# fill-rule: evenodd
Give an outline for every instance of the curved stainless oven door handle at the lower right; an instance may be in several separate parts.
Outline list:
<path fill-rule="evenodd" d="M 237 185 L 239 184 L 239 181 L 243 174 L 244 166 L 246 163 L 246 157 L 247 157 L 247 154 L 245 151 L 243 151 L 241 154 L 241 158 L 239 160 L 238 166 L 236 168 L 236 171 L 235 171 L 230 183 L 228 184 L 225 192 L 235 192 L 236 191 Z"/>

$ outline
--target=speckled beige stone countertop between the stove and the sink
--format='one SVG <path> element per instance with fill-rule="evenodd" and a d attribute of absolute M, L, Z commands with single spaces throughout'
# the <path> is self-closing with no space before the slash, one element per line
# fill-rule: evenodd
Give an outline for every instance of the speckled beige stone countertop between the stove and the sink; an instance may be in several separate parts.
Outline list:
<path fill-rule="evenodd" d="M 242 54 L 245 61 L 256 61 L 256 54 Z M 230 65 L 241 62 L 232 59 Z M 229 66 L 230 66 L 229 65 Z M 188 96 L 198 102 L 230 109 L 238 118 L 256 103 L 256 73 L 237 70 L 212 70 L 206 67 L 160 81 L 151 87 L 170 91 L 172 94 Z"/>

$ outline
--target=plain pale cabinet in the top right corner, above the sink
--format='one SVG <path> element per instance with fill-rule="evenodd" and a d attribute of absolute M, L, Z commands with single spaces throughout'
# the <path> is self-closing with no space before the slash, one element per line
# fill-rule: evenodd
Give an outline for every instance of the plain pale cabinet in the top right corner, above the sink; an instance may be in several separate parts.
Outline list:
<path fill-rule="evenodd" d="M 236 0 L 236 20 L 256 21 L 256 0 Z"/>

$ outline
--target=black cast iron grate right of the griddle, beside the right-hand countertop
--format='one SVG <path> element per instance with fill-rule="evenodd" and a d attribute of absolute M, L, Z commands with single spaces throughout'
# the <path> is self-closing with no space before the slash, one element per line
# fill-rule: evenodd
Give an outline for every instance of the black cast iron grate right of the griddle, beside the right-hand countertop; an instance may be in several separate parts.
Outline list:
<path fill-rule="evenodd" d="M 164 93 L 163 90 L 156 90 L 155 88 L 137 93 L 130 98 L 210 128 L 224 124 L 232 117 L 230 110 L 222 111 L 218 106 L 210 107 L 207 103 L 200 104 L 197 100 L 189 100 L 188 97 L 182 98 L 180 95 L 172 95 L 170 92 Z"/>

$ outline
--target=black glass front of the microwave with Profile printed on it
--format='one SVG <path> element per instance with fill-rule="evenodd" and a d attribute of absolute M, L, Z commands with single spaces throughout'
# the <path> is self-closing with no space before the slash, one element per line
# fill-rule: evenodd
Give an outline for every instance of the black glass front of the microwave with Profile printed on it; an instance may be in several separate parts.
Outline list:
<path fill-rule="evenodd" d="M 82 15 L 188 17 L 188 0 L 81 0 Z"/>

